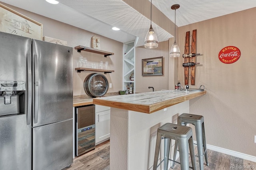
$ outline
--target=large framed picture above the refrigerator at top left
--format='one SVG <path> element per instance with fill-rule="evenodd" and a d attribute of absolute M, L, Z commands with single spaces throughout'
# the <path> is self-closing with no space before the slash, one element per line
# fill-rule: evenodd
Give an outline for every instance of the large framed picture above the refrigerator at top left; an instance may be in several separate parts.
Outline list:
<path fill-rule="evenodd" d="M 0 4 L 0 31 L 42 40 L 43 25 Z"/>

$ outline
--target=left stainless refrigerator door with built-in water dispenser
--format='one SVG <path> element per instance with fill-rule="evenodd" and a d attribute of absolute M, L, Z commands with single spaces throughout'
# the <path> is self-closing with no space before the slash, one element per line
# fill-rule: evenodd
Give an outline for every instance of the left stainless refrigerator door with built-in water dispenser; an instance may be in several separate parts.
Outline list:
<path fill-rule="evenodd" d="M 28 96 L 32 86 L 28 88 L 28 79 L 32 75 L 28 76 L 31 70 L 27 65 L 31 57 L 31 41 L 0 32 L 0 170 L 31 170 L 31 100 L 28 108 Z M 13 87 L 5 86 L 4 82 L 14 81 L 25 82 L 26 89 L 20 91 L 15 83 Z M 6 88 L 17 90 L 11 104 L 4 104 L 2 94 Z"/>

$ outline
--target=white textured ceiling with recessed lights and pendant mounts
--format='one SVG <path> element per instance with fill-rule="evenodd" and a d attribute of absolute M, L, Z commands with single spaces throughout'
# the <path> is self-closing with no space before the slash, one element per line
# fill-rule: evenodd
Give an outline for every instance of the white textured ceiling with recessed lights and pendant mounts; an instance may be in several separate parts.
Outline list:
<path fill-rule="evenodd" d="M 0 1 L 122 43 L 137 39 L 137 47 L 144 45 L 144 38 L 150 27 L 150 16 L 148 18 L 143 16 L 123 0 L 58 0 L 60 3 L 56 5 L 49 4 L 45 0 Z M 140 1 L 144 1 L 150 11 L 150 1 Z M 180 8 L 176 10 L 176 25 L 180 27 L 254 8 L 256 0 L 152 0 L 152 4 L 159 10 L 154 12 L 162 12 L 169 18 L 169 21 L 165 22 L 173 23 L 174 10 L 170 7 L 173 4 L 180 4 Z M 154 15 L 153 10 L 152 15 Z M 111 29 L 113 26 L 121 30 L 113 31 Z M 173 33 L 153 21 L 152 26 L 159 42 L 173 37 Z"/>

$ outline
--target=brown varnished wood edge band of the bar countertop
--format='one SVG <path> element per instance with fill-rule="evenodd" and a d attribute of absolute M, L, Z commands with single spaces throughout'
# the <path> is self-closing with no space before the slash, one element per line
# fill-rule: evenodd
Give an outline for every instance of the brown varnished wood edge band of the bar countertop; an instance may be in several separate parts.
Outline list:
<path fill-rule="evenodd" d="M 198 96 L 202 96 L 204 94 L 206 94 L 206 91 L 189 94 L 186 96 L 166 100 L 164 102 L 159 102 L 159 103 L 152 104 L 152 105 L 124 103 L 124 102 L 117 102 L 117 101 L 104 100 L 104 99 L 98 99 L 98 98 L 94 98 L 92 103 L 102 105 L 102 106 L 109 106 L 109 107 L 115 107 L 115 108 L 119 108 L 119 109 L 126 109 L 126 110 L 138 111 L 138 112 L 150 114 L 150 113 L 159 111 L 161 109 L 164 109 L 166 107 L 170 107 L 175 104 L 184 102 L 186 100 L 190 100 L 190 99 L 196 98 Z"/>

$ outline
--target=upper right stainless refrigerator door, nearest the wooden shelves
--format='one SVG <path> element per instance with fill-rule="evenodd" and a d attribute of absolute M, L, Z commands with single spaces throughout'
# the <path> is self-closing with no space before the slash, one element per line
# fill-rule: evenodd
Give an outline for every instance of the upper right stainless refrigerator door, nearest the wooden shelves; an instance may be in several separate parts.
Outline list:
<path fill-rule="evenodd" d="M 33 127 L 73 117 L 72 47 L 32 41 Z"/>

